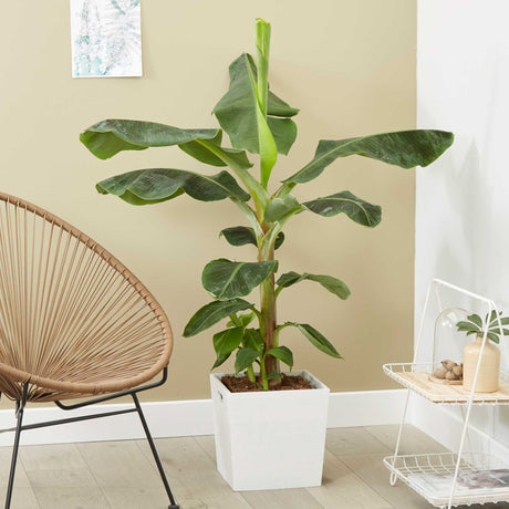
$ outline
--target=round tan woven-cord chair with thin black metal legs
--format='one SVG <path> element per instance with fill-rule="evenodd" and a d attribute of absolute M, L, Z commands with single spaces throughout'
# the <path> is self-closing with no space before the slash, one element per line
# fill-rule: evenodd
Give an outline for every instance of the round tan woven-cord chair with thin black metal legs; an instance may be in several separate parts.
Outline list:
<path fill-rule="evenodd" d="M 178 508 L 137 398 L 166 381 L 172 347 L 160 305 L 117 259 L 62 219 L 0 194 L 0 395 L 15 401 L 18 418 L 6 508 L 22 430 L 129 412 L 142 420 L 169 507 Z M 159 382 L 141 386 L 160 372 Z M 74 409 L 124 395 L 133 408 L 22 424 L 29 402 Z M 61 403 L 83 397 L 93 398 Z"/>

